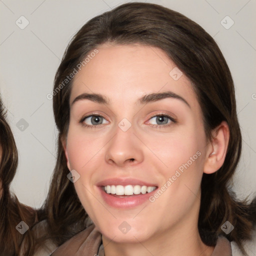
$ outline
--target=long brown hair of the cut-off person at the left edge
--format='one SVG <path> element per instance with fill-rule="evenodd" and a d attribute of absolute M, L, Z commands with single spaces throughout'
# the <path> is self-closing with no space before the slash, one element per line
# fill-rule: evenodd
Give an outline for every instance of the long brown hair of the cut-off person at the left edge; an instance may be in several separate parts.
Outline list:
<path fill-rule="evenodd" d="M 6 122 L 6 111 L 0 99 L 0 145 L 2 157 L 0 162 L 0 252 L 4 256 L 18 255 L 22 240 L 33 246 L 33 237 L 30 230 L 21 234 L 16 230 L 16 225 L 23 220 L 29 228 L 35 220 L 35 210 L 21 204 L 17 197 L 9 190 L 18 163 L 16 144 L 11 129 Z M 29 253 L 29 249 L 28 249 Z"/>

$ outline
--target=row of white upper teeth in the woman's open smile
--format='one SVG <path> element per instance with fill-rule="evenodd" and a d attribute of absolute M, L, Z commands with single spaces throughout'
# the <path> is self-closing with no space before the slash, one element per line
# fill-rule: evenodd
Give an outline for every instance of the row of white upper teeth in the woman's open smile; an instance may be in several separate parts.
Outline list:
<path fill-rule="evenodd" d="M 116 195 L 132 195 L 132 194 L 145 194 L 152 192 L 156 186 L 140 186 L 140 185 L 106 185 L 104 186 L 105 192 L 108 194 L 116 194 Z"/>

